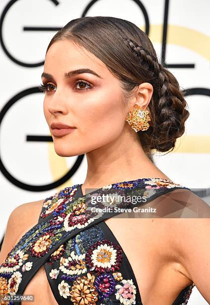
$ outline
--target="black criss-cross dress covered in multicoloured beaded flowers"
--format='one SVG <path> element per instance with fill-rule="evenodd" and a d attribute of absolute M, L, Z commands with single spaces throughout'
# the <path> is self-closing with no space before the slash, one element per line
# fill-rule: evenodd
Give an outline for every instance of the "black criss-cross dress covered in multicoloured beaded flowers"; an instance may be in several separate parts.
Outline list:
<path fill-rule="evenodd" d="M 15 296 L 24 292 L 42 265 L 59 305 L 142 305 L 131 265 L 104 220 L 122 213 L 121 208 L 142 204 L 123 198 L 141 195 L 149 202 L 179 188 L 188 189 L 169 180 L 144 178 L 109 184 L 87 195 L 76 184 L 46 198 L 37 225 L 0 265 L 0 305 L 20 305 Z M 117 200 L 107 200 L 113 195 Z M 172 305 L 186 305 L 194 286 L 186 287 Z"/>

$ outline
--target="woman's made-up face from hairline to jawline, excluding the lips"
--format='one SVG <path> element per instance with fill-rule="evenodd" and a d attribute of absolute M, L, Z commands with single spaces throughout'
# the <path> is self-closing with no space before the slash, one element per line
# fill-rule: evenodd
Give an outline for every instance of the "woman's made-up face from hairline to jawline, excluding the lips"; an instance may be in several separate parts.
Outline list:
<path fill-rule="evenodd" d="M 92 73 L 73 73 L 79 69 Z M 119 81 L 95 55 L 69 40 L 57 41 L 46 54 L 42 81 L 44 115 L 58 155 L 91 152 L 118 139 L 128 111 L 122 106 Z M 53 122 L 75 129 L 55 136 Z"/>

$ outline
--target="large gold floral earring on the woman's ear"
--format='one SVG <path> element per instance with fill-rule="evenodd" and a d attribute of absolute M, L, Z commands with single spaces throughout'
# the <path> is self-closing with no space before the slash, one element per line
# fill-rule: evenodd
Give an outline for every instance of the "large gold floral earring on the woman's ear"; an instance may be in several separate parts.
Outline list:
<path fill-rule="evenodd" d="M 137 133 L 139 130 L 145 131 L 149 128 L 148 121 L 151 121 L 148 116 L 149 111 L 144 107 L 140 107 L 137 104 L 134 105 L 133 110 L 128 112 L 125 121 L 131 125 L 131 128 Z"/>

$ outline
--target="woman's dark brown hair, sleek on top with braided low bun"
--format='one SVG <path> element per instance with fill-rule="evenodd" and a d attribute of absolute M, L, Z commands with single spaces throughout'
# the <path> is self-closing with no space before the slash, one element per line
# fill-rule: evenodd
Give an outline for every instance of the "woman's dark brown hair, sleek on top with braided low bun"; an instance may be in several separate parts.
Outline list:
<path fill-rule="evenodd" d="M 187 102 L 175 76 L 158 62 L 148 36 L 134 23 L 109 16 L 73 19 L 51 39 L 69 39 L 82 46 L 105 63 L 120 80 L 124 97 L 134 87 L 149 82 L 153 95 L 147 107 L 151 121 L 149 129 L 137 134 L 142 148 L 152 160 L 152 150 L 170 152 L 176 139 L 185 132 L 189 117 Z M 126 99 L 125 99 L 126 100 Z"/>

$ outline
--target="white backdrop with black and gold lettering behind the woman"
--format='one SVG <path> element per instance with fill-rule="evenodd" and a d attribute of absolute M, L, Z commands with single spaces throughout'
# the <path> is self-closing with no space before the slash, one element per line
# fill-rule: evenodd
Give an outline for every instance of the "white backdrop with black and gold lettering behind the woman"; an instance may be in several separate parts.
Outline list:
<path fill-rule="evenodd" d="M 124 18 L 149 35 L 190 111 L 175 151 L 156 153 L 155 162 L 177 183 L 210 187 L 209 12 L 208 0 L 0 0 L 0 240 L 15 207 L 84 182 L 85 156 L 54 152 L 37 86 L 52 36 L 85 15 Z M 196 288 L 193 304 L 207 304 Z"/>

